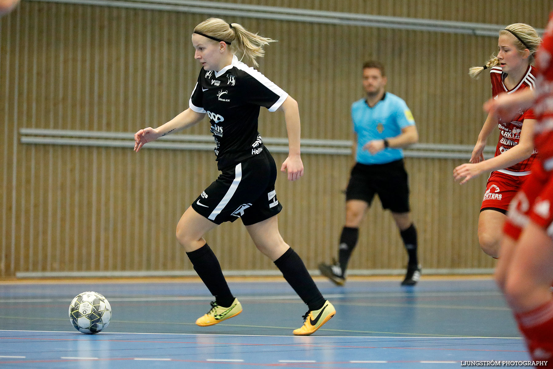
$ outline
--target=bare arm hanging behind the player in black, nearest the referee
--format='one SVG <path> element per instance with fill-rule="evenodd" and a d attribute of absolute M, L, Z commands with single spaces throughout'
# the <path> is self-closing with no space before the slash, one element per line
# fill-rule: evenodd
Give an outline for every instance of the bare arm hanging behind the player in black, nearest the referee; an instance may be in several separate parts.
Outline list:
<path fill-rule="evenodd" d="M 295 181 L 304 175 L 304 163 L 300 156 L 300 111 L 298 102 L 290 96 L 278 108 L 284 112 L 286 132 L 288 132 L 288 158 L 284 160 L 280 171 L 288 171 L 288 179 Z"/>

